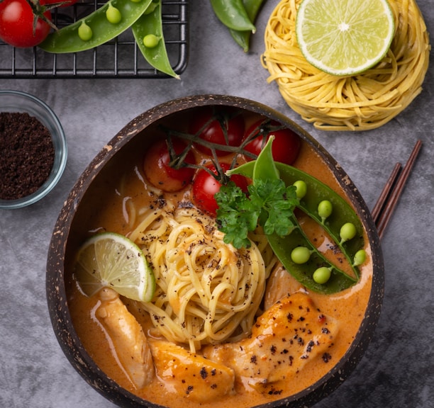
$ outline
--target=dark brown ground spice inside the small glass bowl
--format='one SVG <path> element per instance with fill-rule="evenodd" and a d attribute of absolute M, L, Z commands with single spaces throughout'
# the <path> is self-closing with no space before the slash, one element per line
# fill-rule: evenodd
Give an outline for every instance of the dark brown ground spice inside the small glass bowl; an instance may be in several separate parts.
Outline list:
<path fill-rule="evenodd" d="M 50 131 L 28 113 L 0 113 L 0 198 L 34 193 L 48 179 L 55 149 Z"/>

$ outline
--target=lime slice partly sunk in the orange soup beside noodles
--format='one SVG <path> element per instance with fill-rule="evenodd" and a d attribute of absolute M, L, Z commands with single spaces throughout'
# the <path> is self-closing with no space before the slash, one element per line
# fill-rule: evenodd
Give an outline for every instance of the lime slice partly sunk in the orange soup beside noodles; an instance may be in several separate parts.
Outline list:
<path fill-rule="evenodd" d="M 143 251 L 113 232 L 96 234 L 84 242 L 74 273 L 87 296 L 109 287 L 130 299 L 149 302 L 155 291 L 154 273 Z"/>

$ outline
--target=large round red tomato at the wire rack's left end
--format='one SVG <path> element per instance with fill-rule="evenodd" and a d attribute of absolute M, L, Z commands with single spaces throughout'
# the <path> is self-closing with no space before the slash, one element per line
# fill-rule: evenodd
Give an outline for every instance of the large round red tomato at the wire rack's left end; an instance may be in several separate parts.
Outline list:
<path fill-rule="evenodd" d="M 50 11 L 44 16 L 51 21 Z M 26 0 L 4 0 L 0 3 L 0 38 L 14 47 L 34 47 L 50 33 L 50 26 L 38 18 L 33 33 L 33 11 Z"/>

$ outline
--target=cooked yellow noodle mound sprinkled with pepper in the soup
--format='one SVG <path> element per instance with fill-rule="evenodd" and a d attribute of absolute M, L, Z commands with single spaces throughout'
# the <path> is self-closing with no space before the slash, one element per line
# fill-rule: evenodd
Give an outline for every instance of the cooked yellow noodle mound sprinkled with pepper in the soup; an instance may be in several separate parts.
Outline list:
<path fill-rule="evenodd" d="M 216 221 L 195 208 L 139 212 L 129 238 L 155 273 L 155 296 L 143 308 L 159 333 L 192 352 L 250 334 L 274 256 L 265 236 L 256 234 L 250 248 L 235 249 L 223 242 Z"/>

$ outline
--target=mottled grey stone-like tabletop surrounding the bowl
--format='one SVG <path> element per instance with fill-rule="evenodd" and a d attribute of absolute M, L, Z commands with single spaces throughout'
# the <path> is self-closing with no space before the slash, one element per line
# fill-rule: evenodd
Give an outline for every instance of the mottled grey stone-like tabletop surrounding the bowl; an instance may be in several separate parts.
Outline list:
<path fill-rule="evenodd" d="M 65 174 L 45 199 L 0 210 L 0 407 L 109 408 L 69 365 L 52 332 L 45 262 L 62 204 L 94 155 L 136 115 L 172 98 L 230 94 L 288 115 L 333 154 L 369 208 L 388 174 L 416 140 L 423 148 L 384 238 L 384 307 L 365 357 L 316 408 L 434 407 L 434 64 L 423 93 L 396 119 L 364 133 L 322 132 L 286 106 L 260 64 L 262 34 L 276 1 L 265 4 L 245 55 L 206 0 L 191 0 L 189 65 L 182 79 L 0 79 L 0 89 L 34 94 L 57 113 L 67 135 Z M 420 0 L 434 32 L 432 0 Z M 432 41 L 432 38 L 431 38 Z"/>

